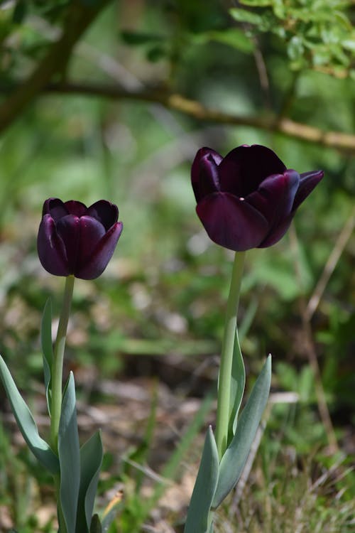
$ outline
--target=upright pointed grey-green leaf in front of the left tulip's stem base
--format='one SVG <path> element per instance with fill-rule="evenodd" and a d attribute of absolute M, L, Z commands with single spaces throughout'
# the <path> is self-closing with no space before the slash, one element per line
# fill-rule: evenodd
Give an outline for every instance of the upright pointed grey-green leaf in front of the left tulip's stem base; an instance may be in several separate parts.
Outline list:
<path fill-rule="evenodd" d="M 80 447 L 77 434 L 75 382 L 72 372 L 62 399 L 58 431 L 60 462 L 60 503 L 67 533 L 75 533 L 77 500 L 80 487 Z"/>

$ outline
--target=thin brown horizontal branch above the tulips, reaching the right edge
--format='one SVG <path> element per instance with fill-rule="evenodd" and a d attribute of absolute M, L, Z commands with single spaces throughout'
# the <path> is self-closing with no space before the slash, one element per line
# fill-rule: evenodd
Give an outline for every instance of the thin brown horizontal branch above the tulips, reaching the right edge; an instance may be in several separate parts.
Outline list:
<path fill-rule="evenodd" d="M 189 115 L 203 122 L 217 124 L 230 124 L 236 126 L 251 126 L 266 131 L 277 131 L 281 134 L 322 144 L 343 151 L 355 151 L 355 135 L 341 133 L 340 131 L 324 131 L 307 124 L 294 122 L 286 117 L 243 117 L 235 114 L 224 113 L 217 109 L 204 107 L 196 100 L 188 99 L 178 94 L 170 94 L 159 90 L 144 90 L 132 92 L 116 85 L 100 85 L 96 83 L 80 84 L 76 82 L 52 83 L 44 88 L 45 92 L 58 92 L 61 94 L 80 94 L 83 96 L 99 96 L 111 99 L 133 99 L 143 102 L 160 103 L 168 109 Z"/>

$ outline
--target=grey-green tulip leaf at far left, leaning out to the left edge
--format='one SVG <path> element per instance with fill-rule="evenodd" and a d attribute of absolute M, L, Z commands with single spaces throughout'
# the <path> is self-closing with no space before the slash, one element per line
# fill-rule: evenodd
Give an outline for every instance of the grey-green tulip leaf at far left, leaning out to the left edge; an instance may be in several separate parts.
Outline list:
<path fill-rule="evenodd" d="M 0 377 L 4 384 L 7 397 L 11 404 L 13 416 L 15 416 L 18 429 L 20 429 L 23 438 L 25 439 L 28 448 L 31 449 L 35 458 L 47 468 L 50 473 L 55 474 L 59 472 L 59 461 L 49 444 L 43 440 L 38 434 L 38 427 L 35 424 L 33 415 L 28 409 L 26 402 L 18 392 L 15 382 L 10 374 L 4 359 L 0 355 Z"/>

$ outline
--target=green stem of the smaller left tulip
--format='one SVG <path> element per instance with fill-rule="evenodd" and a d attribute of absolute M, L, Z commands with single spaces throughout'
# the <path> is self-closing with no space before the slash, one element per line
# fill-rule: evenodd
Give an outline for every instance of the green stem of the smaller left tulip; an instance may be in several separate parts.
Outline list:
<path fill-rule="evenodd" d="M 72 304 L 72 291 L 74 289 L 74 276 L 67 276 L 62 303 L 62 311 L 58 323 L 57 338 L 55 339 L 53 366 L 52 366 L 52 402 L 50 409 L 50 438 L 53 450 L 58 451 L 58 431 L 60 411 L 62 409 L 62 373 L 65 339 L 67 337 L 67 323 L 69 321 L 70 307 Z"/>

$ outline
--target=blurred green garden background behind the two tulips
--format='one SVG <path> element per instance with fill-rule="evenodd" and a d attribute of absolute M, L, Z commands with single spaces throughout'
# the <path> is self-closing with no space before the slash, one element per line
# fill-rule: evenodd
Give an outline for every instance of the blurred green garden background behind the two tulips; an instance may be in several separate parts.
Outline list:
<path fill-rule="evenodd" d="M 247 254 L 240 321 L 249 387 L 272 352 L 273 393 L 298 396 L 273 404 L 248 497 L 238 512 L 232 503 L 224 511 L 221 531 L 354 527 L 354 18 L 354 3 L 340 0 L 0 2 L 0 351 L 33 402 L 43 394 L 41 312 L 48 296 L 58 311 L 62 291 L 36 255 L 46 198 L 105 198 L 124 222 L 107 271 L 75 287 L 67 370 L 79 375 L 82 401 L 109 403 L 85 385 L 94 375 L 167 387 L 179 409 L 214 391 L 231 271 L 231 254 L 209 242 L 195 214 L 197 149 L 226 155 L 264 144 L 288 168 L 324 169 L 288 235 Z M 13 429 L 2 390 L 0 398 Z M 213 420 L 210 412 L 202 431 Z M 159 450 L 169 423 L 148 432 L 147 448 Z M 192 442 L 197 463 L 201 441 Z M 50 519 L 38 525 L 13 496 L 13 472 L 21 480 L 31 463 L 16 457 L 18 446 L 1 433 L 0 509 L 9 522 L 0 530 L 51 531 Z M 168 461 L 160 449 L 153 464 L 159 453 Z M 133 456 L 151 464 L 149 454 Z M 109 457 L 102 505 L 115 483 L 127 494 L 112 531 L 160 531 L 142 526 L 158 528 L 158 519 L 138 512 L 141 481 L 127 482 L 136 473 Z M 40 473 L 32 470 L 33 488 Z M 180 531 L 184 505 L 160 512 L 166 528 Z"/>

